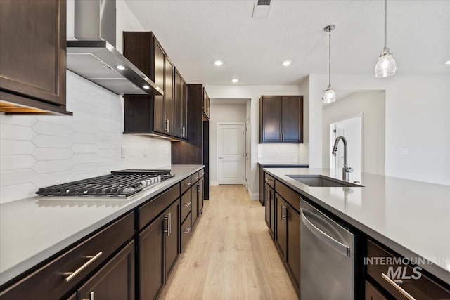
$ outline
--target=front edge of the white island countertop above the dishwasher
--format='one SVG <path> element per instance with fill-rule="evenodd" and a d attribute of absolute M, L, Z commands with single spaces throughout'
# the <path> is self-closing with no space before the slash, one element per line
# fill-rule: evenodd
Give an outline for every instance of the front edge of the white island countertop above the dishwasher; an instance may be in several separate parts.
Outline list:
<path fill-rule="evenodd" d="M 441 266 L 436 265 L 435 263 L 432 263 L 432 261 L 426 259 L 425 257 L 416 254 L 415 252 L 412 252 L 408 248 L 402 246 L 401 244 L 395 242 L 394 240 L 391 240 L 390 238 L 386 237 L 385 235 L 382 235 L 378 233 L 377 231 L 373 230 L 372 228 L 364 225 L 363 223 L 360 223 L 359 221 L 356 221 L 355 219 L 352 219 L 347 214 L 342 213 L 342 211 L 339 211 L 338 209 L 335 209 L 334 207 L 330 207 L 325 202 L 322 202 L 320 199 L 317 199 L 313 195 L 310 195 L 309 193 L 305 192 L 301 188 L 293 185 L 292 183 L 289 183 L 285 181 L 283 178 L 278 176 L 277 174 L 274 174 L 270 171 L 270 168 L 266 170 L 271 176 L 274 176 L 279 181 L 283 182 L 285 185 L 288 185 L 289 188 L 292 188 L 293 190 L 297 191 L 301 195 L 304 195 L 304 197 L 307 197 L 308 200 L 313 201 L 315 204 L 319 205 L 326 211 L 329 211 L 331 214 L 337 216 L 338 218 L 342 219 L 343 221 L 349 223 L 354 228 L 360 230 L 363 233 L 366 233 L 369 237 L 372 237 L 373 240 L 376 240 L 380 242 L 381 244 L 385 244 L 386 247 L 389 247 L 394 252 L 397 252 L 401 256 L 404 257 L 419 257 L 420 259 L 424 259 L 428 263 L 422 264 L 419 263 L 418 266 L 423 268 L 424 270 L 428 271 L 428 273 L 431 273 L 432 275 L 435 275 L 437 278 L 442 280 L 443 282 L 446 282 L 448 285 L 450 285 L 450 273 L 442 268 Z"/>

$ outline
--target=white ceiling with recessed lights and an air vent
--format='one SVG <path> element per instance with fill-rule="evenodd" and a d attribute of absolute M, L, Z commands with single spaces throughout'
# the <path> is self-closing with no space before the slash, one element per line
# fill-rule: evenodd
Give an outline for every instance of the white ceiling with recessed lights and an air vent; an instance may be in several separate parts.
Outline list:
<path fill-rule="evenodd" d="M 188 83 L 298 84 L 307 74 L 373 74 L 384 44 L 384 1 L 273 0 L 252 18 L 253 0 L 127 0 L 155 32 Z M 387 1 L 387 46 L 397 74 L 450 74 L 450 1 Z M 217 67 L 214 60 L 224 60 Z M 292 60 L 284 67 L 283 60 Z"/>

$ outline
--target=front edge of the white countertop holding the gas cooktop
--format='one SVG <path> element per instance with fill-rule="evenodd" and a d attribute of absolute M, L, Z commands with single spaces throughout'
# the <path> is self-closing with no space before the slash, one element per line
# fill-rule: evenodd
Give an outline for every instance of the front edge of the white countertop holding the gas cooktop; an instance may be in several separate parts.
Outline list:
<path fill-rule="evenodd" d="M 136 207 L 139 207 L 139 205 L 143 204 L 144 202 L 150 200 L 153 197 L 156 197 L 163 193 L 165 190 L 168 190 L 173 185 L 176 185 L 177 183 L 180 183 L 184 179 L 188 178 L 188 176 L 191 176 L 197 171 L 200 171 L 205 166 L 204 165 L 172 165 L 172 166 L 196 166 L 195 169 L 186 172 L 186 174 L 182 176 L 174 176 L 172 178 L 167 179 L 166 181 L 162 182 L 162 185 L 158 188 L 158 190 L 153 191 L 149 195 L 143 195 L 142 197 L 136 197 L 136 199 L 132 200 L 129 204 L 122 207 L 120 210 L 115 211 L 113 214 L 110 214 L 109 216 L 106 216 L 105 218 L 97 221 L 94 224 L 91 224 L 91 226 L 88 226 L 79 232 L 75 233 L 74 235 L 71 235 L 70 237 L 65 238 L 64 240 L 61 240 L 57 244 L 53 244 L 51 247 L 44 249 L 43 251 L 39 252 L 38 254 L 35 254 L 34 256 L 30 256 L 29 258 L 25 259 L 24 261 L 21 261 L 20 263 L 16 264 L 15 266 L 12 266 L 11 268 L 8 268 L 4 270 L 2 273 L 0 273 L 0 287 L 4 284 L 10 282 L 11 280 L 14 280 L 21 274 L 27 272 L 27 270 L 30 270 L 31 268 L 39 266 L 39 264 L 43 263 L 44 261 L 51 259 L 52 256 L 56 256 L 58 253 L 62 252 L 64 249 L 67 249 L 70 247 L 70 245 L 75 244 L 79 240 L 83 240 L 84 237 L 91 235 L 92 233 L 95 233 L 97 230 L 103 228 L 103 226 L 108 225 L 108 223 L 114 221 L 115 219 L 119 219 L 121 216 L 124 216 L 127 213 L 130 213 Z M 165 183 L 165 184 L 164 184 Z M 23 200 L 27 200 L 30 198 L 26 198 Z M 16 201 L 23 201 L 23 200 L 16 200 Z"/>

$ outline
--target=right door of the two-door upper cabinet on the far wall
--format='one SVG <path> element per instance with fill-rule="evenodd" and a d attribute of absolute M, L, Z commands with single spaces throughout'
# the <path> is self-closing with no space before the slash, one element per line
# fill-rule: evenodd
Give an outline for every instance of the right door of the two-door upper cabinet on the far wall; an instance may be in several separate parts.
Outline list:
<path fill-rule="evenodd" d="M 283 142 L 300 143 L 302 141 L 300 136 L 300 124 L 303 123 L 300 110 L 300 107 L 303 107 L 302 102 L 299 96 L 281 97 L 281 111 L 283 112 L 281 137 Z"/>

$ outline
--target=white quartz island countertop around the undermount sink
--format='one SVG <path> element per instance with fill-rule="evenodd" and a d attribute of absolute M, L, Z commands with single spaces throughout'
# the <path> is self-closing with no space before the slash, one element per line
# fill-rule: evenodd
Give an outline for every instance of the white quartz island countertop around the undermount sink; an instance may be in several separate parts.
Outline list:
<path fill-rule="evenodd" d="M 286 175 L 342 179 L 342 170 L 268 168 L 279 181 L 450 285 L 450 186 L 376 174 L 350 174 L 361 188 L 321 188 Z M 425 260 L 424 260 L 425 259 Z M 420 260 L 419 260 L 420 261 Z"/>

